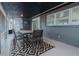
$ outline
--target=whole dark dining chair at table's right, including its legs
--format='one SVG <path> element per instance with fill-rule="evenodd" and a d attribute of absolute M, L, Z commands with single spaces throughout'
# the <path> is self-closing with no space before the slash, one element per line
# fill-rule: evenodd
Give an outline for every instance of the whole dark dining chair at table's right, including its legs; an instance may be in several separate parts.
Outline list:
<path fill-rule="evenodd" d="M 27 48 L 38 49 L 39 45 L 43 42 L 43 30 L 33 30 L 33 33 L 28 35 L 28 41 L 26 43 Z"/>

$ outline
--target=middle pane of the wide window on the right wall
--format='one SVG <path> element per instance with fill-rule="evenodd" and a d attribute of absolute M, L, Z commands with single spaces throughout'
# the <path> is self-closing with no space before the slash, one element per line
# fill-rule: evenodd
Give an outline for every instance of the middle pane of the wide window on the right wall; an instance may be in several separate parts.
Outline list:
<path fill-rule="evenodd" d="M 68 24 L 69 22 L 69 10 L 64 10 L 56 13 L 56 24 Z"/>

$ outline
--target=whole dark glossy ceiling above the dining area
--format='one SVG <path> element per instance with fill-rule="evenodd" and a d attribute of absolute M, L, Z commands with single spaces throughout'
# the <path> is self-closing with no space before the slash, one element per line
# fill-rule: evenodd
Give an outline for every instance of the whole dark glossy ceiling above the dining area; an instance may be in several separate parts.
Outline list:
<path fill-rule="evenodd" d="M 63 2 L 4 2 L 2 3 L 6 13 L 12 17 L 32 17 L 55 7 Z"/>

